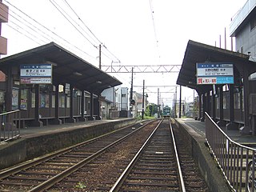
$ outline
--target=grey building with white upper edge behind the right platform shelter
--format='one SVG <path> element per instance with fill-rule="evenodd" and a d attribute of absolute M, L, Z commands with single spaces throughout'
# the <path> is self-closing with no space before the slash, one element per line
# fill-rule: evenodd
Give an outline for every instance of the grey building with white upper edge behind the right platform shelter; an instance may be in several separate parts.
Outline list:
<path fill-rule="evenodd" d="M 230 23 L 230 37 L 235 38 L 235 50 L 238 53 L 248 54 L 250 56 L 250 61 L 256 62 L 256 0 L 248 0 L 242 9 L 238 11 L 238 14 L 232 18 Z M 256 106 L 255 70 L 249 71 L 248 78 L 248 86 L 250 89 L 248 101 L 250 110 L 248 116 L 250 116 L 250 125 L 254 132 L 256 125 L 256 111 L 253 110 Z M 245 98 L 244 94 L 240 92 L 241 91 L 237 90 L 234 93 L 234 106 L 236 108 L 241 105 L 240 103 L 242 103 Z"/>

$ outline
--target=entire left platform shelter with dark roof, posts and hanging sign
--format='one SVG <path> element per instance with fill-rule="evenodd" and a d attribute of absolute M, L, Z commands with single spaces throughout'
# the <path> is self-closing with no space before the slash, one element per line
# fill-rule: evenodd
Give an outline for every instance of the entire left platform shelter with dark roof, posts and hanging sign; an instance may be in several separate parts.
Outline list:
<path fill-rule="evenodd" d="M 122 84 L 54 42 L 2 58 L 0 70 L 0 110 L 20 111 L 21 127 L 100 119 L 102 91 Z"/>

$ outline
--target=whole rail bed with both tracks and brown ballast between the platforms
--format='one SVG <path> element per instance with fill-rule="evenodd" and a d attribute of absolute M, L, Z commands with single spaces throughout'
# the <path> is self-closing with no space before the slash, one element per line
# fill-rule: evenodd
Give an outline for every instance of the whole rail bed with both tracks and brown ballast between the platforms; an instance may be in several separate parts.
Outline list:
<path fill-rule="evenodd" d="M 182 144 L 177 163 L 172 141 L 168 120 L 129 127 L 1 172 L 0 191 L 208 191 Z"/>

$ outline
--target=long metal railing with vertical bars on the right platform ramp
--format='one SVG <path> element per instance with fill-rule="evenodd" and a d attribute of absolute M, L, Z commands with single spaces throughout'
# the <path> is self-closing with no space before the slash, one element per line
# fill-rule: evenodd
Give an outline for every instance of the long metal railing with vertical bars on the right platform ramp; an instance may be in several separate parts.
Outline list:
<path fill-rule="evenodd" d="M 256 191 L 256 149 L 232 141 L 207 113 L 206 142 L 234 191 Z"/>

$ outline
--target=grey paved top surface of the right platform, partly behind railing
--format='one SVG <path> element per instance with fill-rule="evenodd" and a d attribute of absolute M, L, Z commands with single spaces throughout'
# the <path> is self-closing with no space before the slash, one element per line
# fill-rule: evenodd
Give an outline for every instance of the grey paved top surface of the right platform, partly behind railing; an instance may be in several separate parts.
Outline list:
<path fill-rule="evenodd" d="M 193 118 L 176 118 L 176 120 L 179 123 L 190 127 L 190 129 L 193 129 L 202 137 L 205 137 L 206 122 L 200 122 L 198 120 L 194 120 Z M 256 136 L 250 134 L 241 134 L 239 130 L 226 130 L 226 127 L 221 128 L 226 133 L 226 135 L 234 142 L 256 148 Z"/>

